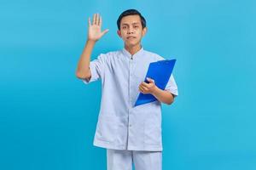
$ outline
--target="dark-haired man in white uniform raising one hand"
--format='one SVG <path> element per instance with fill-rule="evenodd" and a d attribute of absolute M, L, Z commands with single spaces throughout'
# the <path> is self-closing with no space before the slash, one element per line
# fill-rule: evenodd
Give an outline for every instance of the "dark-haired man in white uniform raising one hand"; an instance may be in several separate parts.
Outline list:
<path fill-rule="evenodd" d="M 128 9 L 117 20 L 118 35 L 124 41 L 119 51 L 100 54 L 90 61 L 102 31 L 102 17 L 89 18 L 88 39 L 79 59 L 76 76 L 85 84 L 101 79 L 102 101 L 93 144 L 107 149 L 108 170 L 162 169 L 161 103 L 171 105 L 177 84 L 171 76 L 164 90 L 148 77 L 151 62 L 164 59 L 143 49 L 146 20 L 136 9 Z M 139 93 L 152 94 L 157 101 L 134 107 Z"/>

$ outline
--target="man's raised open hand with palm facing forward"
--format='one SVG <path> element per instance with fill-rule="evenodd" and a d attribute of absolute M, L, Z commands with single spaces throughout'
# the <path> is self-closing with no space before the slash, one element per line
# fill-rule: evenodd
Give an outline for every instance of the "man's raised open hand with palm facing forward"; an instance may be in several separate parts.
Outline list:
<path fill-rule="evenodd" d="M 100 14 L 94 14 L 92 24 L 90 22 L 90 17 L 88 19 L 89 29 L 88 29 L 88 40 L 98 41 L 102 36 L 104 36 L 109 30 L 102 31 L 102 16 Z"/>

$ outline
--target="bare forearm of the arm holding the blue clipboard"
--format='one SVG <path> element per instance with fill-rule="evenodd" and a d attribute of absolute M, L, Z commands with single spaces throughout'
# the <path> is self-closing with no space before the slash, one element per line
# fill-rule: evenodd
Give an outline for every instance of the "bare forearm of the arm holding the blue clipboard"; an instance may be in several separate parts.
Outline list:
<path fill-rule="evenodd" d="M 166 90 L 162 90 L 157 87 L 154 88 L 154 91 L 152 94 L 160 102 L 165 103 L 167 105 L 171 105 L 172 102 L 174 101 L 173 95 L 170 92 L 168 92 Z"/>

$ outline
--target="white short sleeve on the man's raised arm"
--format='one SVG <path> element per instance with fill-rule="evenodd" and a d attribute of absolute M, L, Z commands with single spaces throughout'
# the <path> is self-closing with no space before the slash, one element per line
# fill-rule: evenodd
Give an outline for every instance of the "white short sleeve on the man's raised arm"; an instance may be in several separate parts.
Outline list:
<path fill-rule="evenodd" d="M 101 79 L 104 75 L 106 54 L 100 54 L 97 59 L 90 61 L 90 79 L 82 79 L 85 84 Z"/>

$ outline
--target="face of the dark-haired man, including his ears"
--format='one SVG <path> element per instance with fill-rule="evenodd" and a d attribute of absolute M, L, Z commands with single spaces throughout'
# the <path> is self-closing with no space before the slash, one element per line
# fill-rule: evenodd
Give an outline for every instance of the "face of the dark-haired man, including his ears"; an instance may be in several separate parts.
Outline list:
<path fill-rule="evenodd" d="M 147 28 L 143 28 L 139 15 L 128 15 L 122 18 L 118 35 L 124 40 L 125 45 L 133 47 L 140 44 L 146 32 Z"/>

